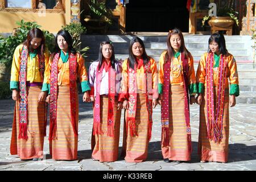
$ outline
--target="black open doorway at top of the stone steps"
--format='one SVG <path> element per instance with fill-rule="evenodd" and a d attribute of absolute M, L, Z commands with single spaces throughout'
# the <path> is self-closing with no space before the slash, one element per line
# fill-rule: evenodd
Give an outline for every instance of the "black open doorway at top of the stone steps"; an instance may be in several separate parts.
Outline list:
<path fill-rule="evenodd" d="M 180 28 L 188 32 L 187 0 L 130 0 L 126 5 L 126 31 L 167 32 Z"/>

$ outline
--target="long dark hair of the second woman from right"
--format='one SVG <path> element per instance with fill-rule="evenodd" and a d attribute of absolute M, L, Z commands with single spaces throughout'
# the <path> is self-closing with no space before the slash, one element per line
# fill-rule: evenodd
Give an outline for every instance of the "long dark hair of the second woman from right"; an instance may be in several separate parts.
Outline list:
<path fill-rule="evenodd" d="M 192 57 L 191 53 L 185 47 L 185 42 L 184 42 L 184 37 L 182 32 L 179 30 L 179 28 L 174 28 L 170 30 L 167 35 L 167 52 L 166 52 L 164 63 L 166 63 L 167 60 L 172 60 L 172 56 L 174 56 L 174 48 L 172 48 L 171 42 L 170 42 L 171 36 L 174 34 L 178 34 L 181 39 L 180 53 L 184 53 L 185 59 L 188 59 L 188 57 Z"/>

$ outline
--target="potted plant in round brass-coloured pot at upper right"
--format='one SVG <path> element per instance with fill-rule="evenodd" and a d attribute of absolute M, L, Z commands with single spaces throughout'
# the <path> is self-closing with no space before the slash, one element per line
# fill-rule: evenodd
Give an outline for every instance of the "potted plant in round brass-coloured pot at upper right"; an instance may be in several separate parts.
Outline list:
<path fill-rule="evenodd" d="M 217 16 L 204 16 L 202 20 L 202 27 L 205 25 L 205 22 L 208 21 L 209 26 L 211 27 L 212 31 L 214 32 L 216 29 L 218 30 L 231 30 L 232 34 L 232 27 L 233 24 L 236 23 L 238 26 L 238 18 L 236 14 L 237 11 L 233 9 L 233 1 L 228 1 L 226 5 L 222 5 L 225 3 L 223 1 L 217 1 Z M 230 33 L 230 32 L 229 32 Z"/>

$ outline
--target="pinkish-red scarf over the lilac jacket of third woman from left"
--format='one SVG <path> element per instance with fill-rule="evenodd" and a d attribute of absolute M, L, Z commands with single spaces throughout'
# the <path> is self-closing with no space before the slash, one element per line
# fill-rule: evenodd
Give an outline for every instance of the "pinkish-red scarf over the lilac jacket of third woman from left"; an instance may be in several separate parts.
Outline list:
<path fill-rule="evenodd" d="M 108 136 L 114 137 L 114 105 L 115 105 L 115 69 L 111 67 L 111 64 L 104 61 L 101 68 L 97 67 L 96 71 L 96 100 L 93 110 L 93 135 L 103 134 L 101 130 L 101 119 L 100 119 L 100 88 L 102 71 L 108 72 L 109 77 L 109 94 L 108 94 Z"/>

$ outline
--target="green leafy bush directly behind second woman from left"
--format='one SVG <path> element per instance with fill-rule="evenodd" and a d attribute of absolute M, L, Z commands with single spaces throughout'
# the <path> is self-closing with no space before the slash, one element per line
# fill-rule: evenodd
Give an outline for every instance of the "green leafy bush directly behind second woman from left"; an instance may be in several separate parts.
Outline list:
<path fill-rule="evenodd" d="M 85 52 L 89 50 L 89 47 L 81 48 L 80 35 L 86 33 L 86 28 L 82 26 L 80 22 L 69 23 L 67 26 L 62 27 L 63 30 L 67 30 L 69 34 L 73 37 L 73 47 L 82 56 L 85 56 Z"/>

